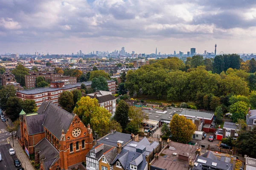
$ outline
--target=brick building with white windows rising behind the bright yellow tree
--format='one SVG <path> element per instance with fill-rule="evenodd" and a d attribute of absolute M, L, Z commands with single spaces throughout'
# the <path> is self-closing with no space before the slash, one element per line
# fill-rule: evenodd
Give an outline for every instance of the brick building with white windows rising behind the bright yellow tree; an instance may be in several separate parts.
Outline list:
<path fill-rule="evenodd" d="M 112 116 L 115 115 L 116 112 L 116 98 L 111 95 L 111 92 L 99 90 L 95 93 L 87 94 L 90 98 L 96 98 L 99 102 L 100 107 L 104 107 L 109 112 L 111 112 Z"/>

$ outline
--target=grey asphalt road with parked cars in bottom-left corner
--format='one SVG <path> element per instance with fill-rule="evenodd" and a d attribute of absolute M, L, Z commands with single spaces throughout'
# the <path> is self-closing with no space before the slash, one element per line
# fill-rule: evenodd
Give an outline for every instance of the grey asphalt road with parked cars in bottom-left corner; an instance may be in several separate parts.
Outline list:
<path fill-rule="evenodd" d="M 0 170 L 16 170 L 14 166 L 14 159 L 17 158 L 16 155 L 10 156 L 9 149 L 12 148 L 10 144 L 0 145 L 0 152 L 3 160 L 0 161 Z"/>

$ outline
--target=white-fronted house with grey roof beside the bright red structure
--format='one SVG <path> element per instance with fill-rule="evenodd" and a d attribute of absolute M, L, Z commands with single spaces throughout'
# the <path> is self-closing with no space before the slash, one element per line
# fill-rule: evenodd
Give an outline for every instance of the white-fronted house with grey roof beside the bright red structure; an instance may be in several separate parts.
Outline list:
<path fill-rule="evenodd" d="M 223 125 L 223 137 L 222 138 L 228 138 L 231 137 L 234 140 L 237 139 L 239 132 L 239 127 L 236 125 L 236 123 L 233 122 L 224 122 Z"/>

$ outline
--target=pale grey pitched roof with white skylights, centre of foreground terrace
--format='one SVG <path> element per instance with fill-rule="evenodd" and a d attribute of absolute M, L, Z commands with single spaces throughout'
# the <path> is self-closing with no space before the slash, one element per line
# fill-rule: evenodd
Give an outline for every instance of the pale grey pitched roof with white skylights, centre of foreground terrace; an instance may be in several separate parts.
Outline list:
<path fill-rule="evenodd" d="M 125 150 L 130 150 L 137 152 L 137 150 L 144 150 L 144 155 L 149 155 L 151 152 L 153 152 L 154 149 L 158 146 L 158 142 L 154 141 L 150 143 L 146 137 L 141 139 L 139 142 L 136 141 L 130 141 L 128 144 L 124 146 Z"/>

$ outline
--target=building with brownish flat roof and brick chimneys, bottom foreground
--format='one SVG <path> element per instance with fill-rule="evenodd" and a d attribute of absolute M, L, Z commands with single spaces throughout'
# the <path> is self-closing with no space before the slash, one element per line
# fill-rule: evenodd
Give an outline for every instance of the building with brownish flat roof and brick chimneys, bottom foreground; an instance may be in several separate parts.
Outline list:
<path fill-rule="evenodd" d="M 201 147 L 169 141 L 150 162 L 150 170 L 189 170 Z"/>

